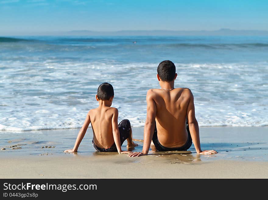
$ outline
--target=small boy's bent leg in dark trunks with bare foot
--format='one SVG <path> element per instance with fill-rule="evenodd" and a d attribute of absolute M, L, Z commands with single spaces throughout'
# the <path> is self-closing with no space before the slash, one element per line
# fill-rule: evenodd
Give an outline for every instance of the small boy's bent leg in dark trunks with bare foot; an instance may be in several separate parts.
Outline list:
<path fill-rule="evenodd" d="M 132 128 L 129 120 L 127 119 L 122 120 L 118 124 L 118 128 L 120 132 L 121 145 L 125 140 L 127 140 L 128 141 L 127 148 L 138 146 L 138 144 L 132 141 Z"/>

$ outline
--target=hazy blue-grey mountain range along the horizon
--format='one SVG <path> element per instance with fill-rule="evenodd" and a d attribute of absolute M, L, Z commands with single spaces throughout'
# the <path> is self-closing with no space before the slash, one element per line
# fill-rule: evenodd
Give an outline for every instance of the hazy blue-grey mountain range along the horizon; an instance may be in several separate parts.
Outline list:
<path fill-rule="evenodd" d="M 1 34 L 1 33 L 0 33 Z M 1 35 L 55 35 L 55 36 L 268 36 L 266 30 L 121 30 L 121 31 L 90 31 L 72 30 L 58 32 L 31 32 Z"/>

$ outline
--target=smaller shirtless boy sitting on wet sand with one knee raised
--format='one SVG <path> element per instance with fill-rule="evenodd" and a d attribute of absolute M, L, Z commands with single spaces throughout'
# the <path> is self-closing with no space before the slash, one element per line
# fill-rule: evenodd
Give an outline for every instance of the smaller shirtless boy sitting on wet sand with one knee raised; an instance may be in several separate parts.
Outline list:
<path fill-rule="evenodd" d="M 97 151 L 101 152 L 118 152 L 131 153 L 122 151 L 121 146 L 125 140 L 128 141 L 127 148 L 138 146 L 132 141 L 132 129 L 129 120 L 122 120 L 119 125 L 118 110 L 111 107 L 114 98 L 113 86 L 107 82 L 102 83 L 97 90 L 96 100 L 99 102 L 99 107 L 91 109 L 80 129 L 76 138 L 73 149 L 65 150 L 64 152 L 77 152 L 80 142 L 82 141 L 86 130 L 91 123 L 93 130 L 92 145 Z"/>

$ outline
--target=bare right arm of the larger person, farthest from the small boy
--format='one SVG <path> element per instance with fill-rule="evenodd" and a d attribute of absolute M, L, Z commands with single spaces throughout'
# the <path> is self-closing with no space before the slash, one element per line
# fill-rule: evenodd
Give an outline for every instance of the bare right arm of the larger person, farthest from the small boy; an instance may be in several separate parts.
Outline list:
<path fill-rule="evenodd" d="M 201 150 L 200 138 L 199 138 L 199 126 L 198 126 L 198 122 L 195 116 L 194 96 L 191 90 L 189 91 L 190 91 L 190 100 L 189 100 L 188 107 L 187 107 L 187 118 L 188 118 L 190 134 L 191 134 L 192 141 L 196 149 L 196 153 L 198 154 L 217 153 L 214 150 L 204 150 L 204 151 Z"/>

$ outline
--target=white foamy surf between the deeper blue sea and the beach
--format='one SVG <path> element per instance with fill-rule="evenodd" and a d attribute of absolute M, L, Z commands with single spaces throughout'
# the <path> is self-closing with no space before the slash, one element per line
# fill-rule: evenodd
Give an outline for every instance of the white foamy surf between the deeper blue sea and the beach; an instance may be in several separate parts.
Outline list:
<path fill-rule="evenodd" d="M 146 92 L 159 88 L 157 63 L 86 61 L 1 61 L 0 130 L 31 131 L 80 128 L 97 107 L 102 82 L 115 90 L 118 121 L 141 127 L 146 119 Z M 267 126 L 267 62 L 175 63 L 175 87 L 195 96 L 200 126 Z"/>

